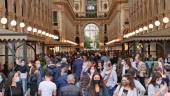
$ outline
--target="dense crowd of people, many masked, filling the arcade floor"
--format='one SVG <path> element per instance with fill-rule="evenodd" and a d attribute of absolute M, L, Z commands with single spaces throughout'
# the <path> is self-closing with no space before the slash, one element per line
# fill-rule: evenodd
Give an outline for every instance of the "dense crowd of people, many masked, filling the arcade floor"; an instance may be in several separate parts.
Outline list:
<path fill-rule="evenodd" d="M 170 56 L 111 52 L 45 55 L 1 65 L 0 96 L 170 96 Z"/>

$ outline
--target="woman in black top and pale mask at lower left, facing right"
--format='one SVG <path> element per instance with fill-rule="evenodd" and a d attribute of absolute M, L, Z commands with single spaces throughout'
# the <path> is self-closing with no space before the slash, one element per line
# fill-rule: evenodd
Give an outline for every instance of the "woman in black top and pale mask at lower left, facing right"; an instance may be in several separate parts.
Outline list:
<path fill-rule="evenodd" d="M 11 72 L 9 74 L 5 96 L 24 96 L 22 87 L 17 84 L 19 81 L 20 78 L 18 72 Z"/>

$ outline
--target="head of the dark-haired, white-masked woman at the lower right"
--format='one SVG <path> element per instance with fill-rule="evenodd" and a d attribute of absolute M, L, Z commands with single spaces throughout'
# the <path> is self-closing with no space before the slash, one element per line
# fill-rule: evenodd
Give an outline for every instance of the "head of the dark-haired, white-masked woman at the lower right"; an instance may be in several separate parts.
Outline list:
<path fill-rule="evenodd" d="M 162 83 L 162 77 L 161 74 L 159 72 L 154 72 L 152 74 L 152 79 L 150 81 L 150 84 L 155 85 L 160 85 Z"/>

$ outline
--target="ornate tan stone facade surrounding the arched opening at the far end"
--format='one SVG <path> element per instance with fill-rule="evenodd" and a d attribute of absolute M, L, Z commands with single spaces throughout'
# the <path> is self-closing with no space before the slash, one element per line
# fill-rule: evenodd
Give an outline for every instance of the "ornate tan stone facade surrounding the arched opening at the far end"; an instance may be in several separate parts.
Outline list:
<path fill-rule="evenodd" d="M 96 3 L 96 17 L 86 16 L 88 1 Z M 69 39 L 75 42 L 75 38 L 79 37 L 80 47 L 83 48 L 85 26 L 96 24 L 100 30 L 100 48 L 103 48 L 104 43 L 123 36 L 124 23 L 128 18 L 127 4 L 126 0 L 54 0 L 53 9 L 58 12 L 59 24 L 53 29 L 59 31 L 61 40 Z M 108 40 L 105 40 L 105 37 Z"/>

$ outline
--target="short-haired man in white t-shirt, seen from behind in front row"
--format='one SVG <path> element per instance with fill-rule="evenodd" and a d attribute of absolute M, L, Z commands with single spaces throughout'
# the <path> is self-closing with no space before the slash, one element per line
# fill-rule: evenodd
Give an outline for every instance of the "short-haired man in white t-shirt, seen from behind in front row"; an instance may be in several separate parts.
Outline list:
<path fill-rule="evenodd" d="M 40 82 L 38 87 L 38 94 L 40 96 L 56 96 L 57 87 L 51 80 L 52 73 L 47 71 L 45 73 L 45 80 Z"/>

